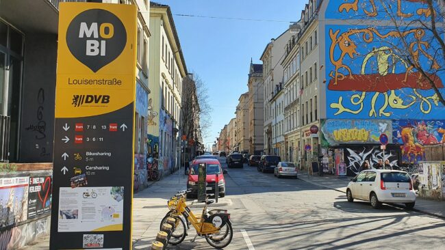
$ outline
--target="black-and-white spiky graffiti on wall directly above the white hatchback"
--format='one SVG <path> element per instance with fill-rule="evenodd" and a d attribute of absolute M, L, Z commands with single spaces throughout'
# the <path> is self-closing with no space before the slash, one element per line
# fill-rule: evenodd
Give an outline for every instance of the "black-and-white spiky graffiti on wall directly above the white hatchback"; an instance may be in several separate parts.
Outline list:
<path fill-rule="evenodd" d="M 357 173 L 361 171 L 361 165 L 367 160 L 369 161 L 371 168 L 374 169 L 374 166 L 377 165 L 379 159 L 382 159 L 383 162 L 386 160 L 390 161 L 390 165 L 393 167 L 398 167 L 398 150 L 395 148 L 388 148 L 385 150 L 385 154 L 380 150 L 378 146 L 375 147 L 355 147 L 355 148 L 346 148 L 344 150 L 345 154 L 345 162 L 346 162 L 346 173 L 348 176 L 355 176 Z"/>

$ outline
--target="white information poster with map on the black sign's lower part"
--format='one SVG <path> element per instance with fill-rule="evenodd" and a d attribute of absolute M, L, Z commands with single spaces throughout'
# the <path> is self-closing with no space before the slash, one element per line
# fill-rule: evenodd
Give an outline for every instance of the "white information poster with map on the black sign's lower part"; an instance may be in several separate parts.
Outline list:
<path fill-rule="evenodd" d="M 123 186 L 60 188 L 58 232 L 122 231 Z"/>

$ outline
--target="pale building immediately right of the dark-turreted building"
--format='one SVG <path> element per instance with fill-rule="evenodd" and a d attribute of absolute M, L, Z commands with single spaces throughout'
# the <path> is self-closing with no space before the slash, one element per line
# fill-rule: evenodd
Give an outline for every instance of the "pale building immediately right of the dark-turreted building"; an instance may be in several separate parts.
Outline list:
<path fill-rule="evenodd" d="M 277 39 L 272 39 L 264 48 L 260 59 L 263 61 L 264 81 L 264 153 L 285 157 L 284 146 L 284 103 L 283 103 L 283 48 L 290 38 L 286 30 Z"/>

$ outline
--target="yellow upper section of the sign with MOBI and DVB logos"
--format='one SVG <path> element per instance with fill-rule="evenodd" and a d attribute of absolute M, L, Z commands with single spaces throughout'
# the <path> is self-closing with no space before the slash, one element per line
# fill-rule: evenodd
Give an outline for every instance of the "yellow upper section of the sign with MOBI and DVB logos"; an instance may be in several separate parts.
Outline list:
<path fill-rule="evenodd" d="M 55 117 L 110 113 L 133 102 L 135 13 L 135 5 L 60 4 Z"/>

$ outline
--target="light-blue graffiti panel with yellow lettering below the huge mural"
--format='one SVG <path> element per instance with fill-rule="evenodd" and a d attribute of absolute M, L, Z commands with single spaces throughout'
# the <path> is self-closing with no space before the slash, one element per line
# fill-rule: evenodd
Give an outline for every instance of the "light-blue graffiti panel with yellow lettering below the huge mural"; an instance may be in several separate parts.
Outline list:
<path fill-rule="evenodd" d="M 382 133 L 392 134 L 392 122 L 391 120 L 327 120 L 323 122 L 321 131 L 329 145 L 379 143 Z"/>

